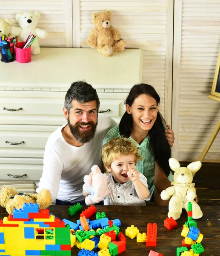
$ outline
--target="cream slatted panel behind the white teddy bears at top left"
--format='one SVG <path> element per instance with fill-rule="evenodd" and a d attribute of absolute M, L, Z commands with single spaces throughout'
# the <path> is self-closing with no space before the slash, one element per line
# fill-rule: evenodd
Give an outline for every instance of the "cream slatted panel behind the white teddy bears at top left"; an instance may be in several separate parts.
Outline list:
<path fill-rule="evenodd" d="M 40 39 L 40 46 L 72 47 L 72 0 L 8 0 L 0 3 L 0 16 L 12 20 L 19 26 L 15 15 L 35 10 L 41 17 L 37 26 L 48 32 L 46 39 Z"/>

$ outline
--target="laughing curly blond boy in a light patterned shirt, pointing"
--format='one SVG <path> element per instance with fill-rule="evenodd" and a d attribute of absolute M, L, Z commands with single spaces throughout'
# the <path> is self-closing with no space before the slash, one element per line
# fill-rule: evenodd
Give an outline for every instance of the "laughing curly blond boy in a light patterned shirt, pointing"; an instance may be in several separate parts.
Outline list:
<path fill-rule="evenodd" d="M 138 148 L 128 138 L 109 140 L 102 149 L 110 195 L 104 205 L 146 205 L 150 193 L 146 177 L 135 169 L 141 158 Z"/>

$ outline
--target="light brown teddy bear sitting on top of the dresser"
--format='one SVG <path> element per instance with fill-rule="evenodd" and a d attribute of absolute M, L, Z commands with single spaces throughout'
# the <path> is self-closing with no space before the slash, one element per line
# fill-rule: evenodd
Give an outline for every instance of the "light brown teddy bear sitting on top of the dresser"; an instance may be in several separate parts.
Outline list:
<path fill-rule="evenodd" d="M 109 57 L 112 52 L 123 52 L 126 41 L 120 38 L 117 29 L 111 26 L 111 12 L 97 12 L 92 15 L 93 29 L 89 35 L 87 44 L 96 48 L 99 53 Z"/>

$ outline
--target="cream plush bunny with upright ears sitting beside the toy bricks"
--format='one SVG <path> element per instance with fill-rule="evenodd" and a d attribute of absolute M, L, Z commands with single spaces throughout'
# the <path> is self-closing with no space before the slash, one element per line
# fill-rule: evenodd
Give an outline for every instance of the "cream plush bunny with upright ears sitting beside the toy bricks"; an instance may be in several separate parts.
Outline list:
<path fill-rule="evenodd" d="M 169 166 L 174 171 L 174 182 L 171 182 L 171 187 L 163 190 L 160 197 L 163 200 L 169 200 L 168 217 L 173 217 L 174 220 L 180 218 L 182 209 L 187 212 L 187 205 L 192 203 L 192 218 L 198 219 L 203 216 L 199 205 L 194 201 L 196 197 L 195 183 L 192 179 L 195 173 L 201 168 L 200 161 L 190 163 L 187 167 L 180 167 L 180 163 L 175 158 L 169 159 Z"/>

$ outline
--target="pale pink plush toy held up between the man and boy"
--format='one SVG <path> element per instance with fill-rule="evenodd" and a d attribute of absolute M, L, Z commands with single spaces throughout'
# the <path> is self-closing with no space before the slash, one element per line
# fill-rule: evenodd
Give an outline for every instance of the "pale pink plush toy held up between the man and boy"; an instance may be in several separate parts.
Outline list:
<path fill-rule="evenodd" d="M 91 172 L 93 175 L 86 175 L 83 179 L 83 190 L 89 194 L 85 198 L 87 205 L 103 201 L 110 192 L 106 174 L 103 174 L 97 165 L 92 166 Z"/>

